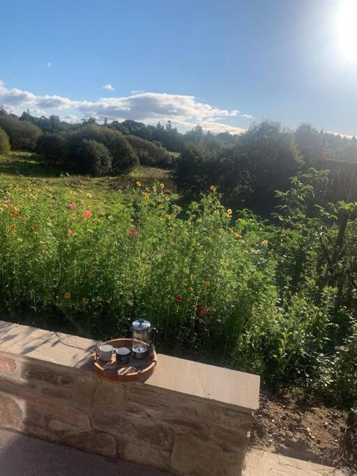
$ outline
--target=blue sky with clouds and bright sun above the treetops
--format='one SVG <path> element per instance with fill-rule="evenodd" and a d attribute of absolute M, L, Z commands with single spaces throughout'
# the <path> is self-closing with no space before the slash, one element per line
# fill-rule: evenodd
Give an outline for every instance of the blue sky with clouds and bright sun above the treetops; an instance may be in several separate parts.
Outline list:
<path fill-rule="evenodd" d="M 357 0 L 1 4 L 0 103 L 184 131 L 357 133 Z"/>

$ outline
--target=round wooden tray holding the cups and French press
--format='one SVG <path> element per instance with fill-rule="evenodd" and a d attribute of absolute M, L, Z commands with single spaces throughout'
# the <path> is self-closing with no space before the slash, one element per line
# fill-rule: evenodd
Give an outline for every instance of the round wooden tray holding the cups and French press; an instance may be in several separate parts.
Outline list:
<path fill-rule="evenodd" d="M 114 348 L 128 347 L 131 349 L 131 339 L 112 339 L 110 341 L 102 342 L 100 345 L 110 344 Z M 149 378 L 155 371 L 156 360 L 158 355 L 154 351 L 153 356 L 148 356 L 144 359 L 134 359 L 130 357 L 128 364 L 117 364 L 115 354 L 109 362 L 102 362 L 96 351 L 93 352 L 93 370 L 101 378 L 105 380 L 129 383 L 142 382 Z"/>

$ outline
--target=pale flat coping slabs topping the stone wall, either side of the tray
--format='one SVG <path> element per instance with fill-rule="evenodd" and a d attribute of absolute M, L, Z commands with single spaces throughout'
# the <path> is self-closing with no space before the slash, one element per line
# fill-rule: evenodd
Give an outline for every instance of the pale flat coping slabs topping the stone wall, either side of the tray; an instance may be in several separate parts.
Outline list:
<path fill-rule="evenodd" d="M 96 341 L 0 321 L 0 352 L 91 371 Z M 144 387 L 190 395 L 239 410 L 259 406 L 259 376 L 159 354 Z"/>

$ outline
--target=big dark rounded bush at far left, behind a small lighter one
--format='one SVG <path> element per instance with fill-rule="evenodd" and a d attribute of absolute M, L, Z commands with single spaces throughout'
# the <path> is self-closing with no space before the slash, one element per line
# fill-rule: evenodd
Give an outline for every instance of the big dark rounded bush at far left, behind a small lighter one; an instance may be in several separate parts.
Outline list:
<path fill-rule="evenodd" d="M 25 151 L 33 151 L 36 141 L 40 137 L 42 131 L 36 125 L 29 121 L 20 121 L 13 114 L 5 114 L 0 116 L 0 128 L 5 130 L 10 139 L 11 148 L 23 149 Z"/>

